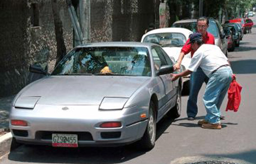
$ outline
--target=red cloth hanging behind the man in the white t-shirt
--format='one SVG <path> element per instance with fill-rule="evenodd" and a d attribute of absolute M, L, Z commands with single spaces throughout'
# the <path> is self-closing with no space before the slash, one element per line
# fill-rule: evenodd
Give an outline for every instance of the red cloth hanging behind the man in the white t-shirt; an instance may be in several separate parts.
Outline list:
<path fill-rule="evenodd" d="M 229 86 L 229 89 L 227 91 L 228 94 L 228 102 L 226 111 L 231 110 L 234 112 L 238 111 L 240 102 L 241 102 L 241 90 L 242 86 L 237 83 L 236 81 L 236 75 L 232 75 L 232 82 Z"/>

